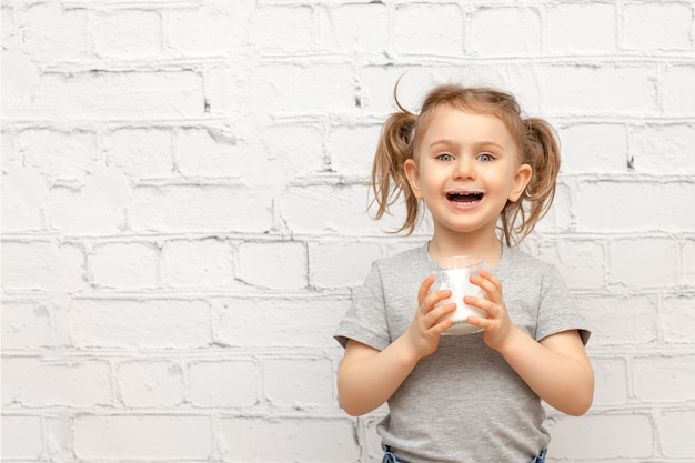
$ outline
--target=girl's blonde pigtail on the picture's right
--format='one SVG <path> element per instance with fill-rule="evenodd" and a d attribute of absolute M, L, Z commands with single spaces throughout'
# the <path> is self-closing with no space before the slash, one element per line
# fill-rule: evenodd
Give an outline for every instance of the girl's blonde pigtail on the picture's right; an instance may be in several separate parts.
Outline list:
<path fill-rule="evenodd" d="M 531 181 L 515 203 L 507 203 L 502 213 L 506 243 L 511 245 L 512 231 L 515 242 L 521 242 L 550 210 L 560 173 L 560 144 L 553 128 L 544 120 L 522 120 L 521 144 L 524 162 L 533 169 Z M 511 227 L 518 221 L 513 230 Z"/>

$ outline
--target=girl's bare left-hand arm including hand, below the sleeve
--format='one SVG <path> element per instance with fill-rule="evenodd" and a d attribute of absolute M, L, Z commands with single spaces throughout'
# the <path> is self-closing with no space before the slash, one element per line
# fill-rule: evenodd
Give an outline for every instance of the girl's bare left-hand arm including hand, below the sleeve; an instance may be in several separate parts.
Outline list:
<path fill-rule="evenodd" d="M 435 305 L 451 296 L 451 291 L 430 294 L 433 276 L 426 278 L 417 292 L 419 308 L 407 331 L 386 349 L 379 351 L 350 340 L 338 370 L 338 395 L 342 409 L 362 415 L 381 406 L 413 371 L 420 359 L 433 353 L 451 320 L 443 318 L 456 304 Z"/>

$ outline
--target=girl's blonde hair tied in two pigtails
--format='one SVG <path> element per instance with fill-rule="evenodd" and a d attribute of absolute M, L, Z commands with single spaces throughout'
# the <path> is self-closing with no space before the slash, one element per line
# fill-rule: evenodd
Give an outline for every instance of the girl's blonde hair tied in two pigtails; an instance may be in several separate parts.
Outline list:
<path fill-rule="evenodd" d="M 407 182 L 404 164 L 406 160 L 413 159 L 415 148 L 427 130 L 435 110 L 446 105 L 498 118 L 516 141 L 522 157 L 521 163 L 531 165 L 531 181 L 516 202 L 506 202 L 498 225 L 507 245 L 521 243 L 547 213 L 555 197 L 560 145 L 553 128 L 542 119 L 524 118 L 513 95 L 492 88 L 464 88 L 454 84 L 436 87 L 427 93 L 420 114 L 404 109 L 396 92 L 397 83 L 394 88 L 394 100 L 400 111 L 386 119 L 372 165 L 371 185 L 374 198 L 370 208 L 377 205 L 374 218 L 379 220 L 384 213 L 389 213 L 390 208 L 403 194 L 406 215 L 394 233 L 405 231 L 411 234 L 414 231 L 420 217 L 420 201 Z"/>

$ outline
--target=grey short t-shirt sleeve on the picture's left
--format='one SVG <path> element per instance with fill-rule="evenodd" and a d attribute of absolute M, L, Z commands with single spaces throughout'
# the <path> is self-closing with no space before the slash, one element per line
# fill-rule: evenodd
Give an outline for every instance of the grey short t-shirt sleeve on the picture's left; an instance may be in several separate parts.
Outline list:
<path fill-rule="evenodd" d="M 334 335 L 344 348 L 354 340 L 380 351 L 391 343 L 382 276 L 374 263 L 364 284 L 357 290 Z"/>

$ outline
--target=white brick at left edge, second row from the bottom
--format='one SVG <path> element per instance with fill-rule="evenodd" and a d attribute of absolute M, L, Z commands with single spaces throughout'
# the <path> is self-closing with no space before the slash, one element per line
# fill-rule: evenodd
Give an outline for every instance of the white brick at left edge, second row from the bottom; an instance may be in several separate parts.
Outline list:
<path fill-rule="evenodd" d="M 2 403 L 24 407 L 108 406 L 111 371 L 102 360 L 4 358 Z"/>

